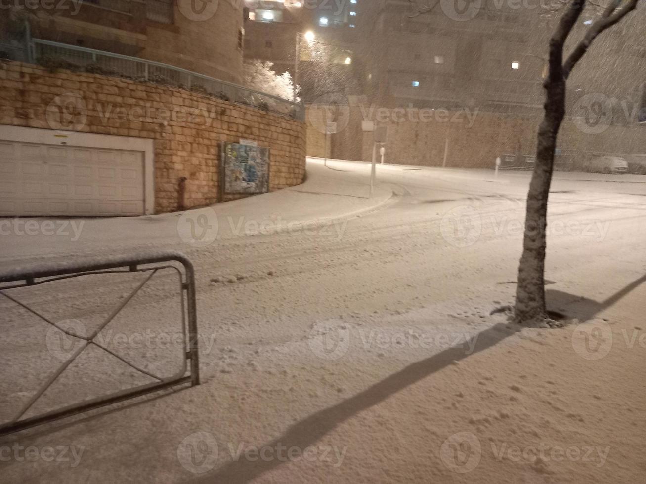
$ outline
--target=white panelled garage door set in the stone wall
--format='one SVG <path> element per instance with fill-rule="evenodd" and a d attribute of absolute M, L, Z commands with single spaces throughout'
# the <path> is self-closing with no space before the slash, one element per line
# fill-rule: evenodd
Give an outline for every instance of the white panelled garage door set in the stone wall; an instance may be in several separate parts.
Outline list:
<path fill-rule="evenodd" d="M 141 215 L 144 153 L 0 139 L 0 216 Z"/>

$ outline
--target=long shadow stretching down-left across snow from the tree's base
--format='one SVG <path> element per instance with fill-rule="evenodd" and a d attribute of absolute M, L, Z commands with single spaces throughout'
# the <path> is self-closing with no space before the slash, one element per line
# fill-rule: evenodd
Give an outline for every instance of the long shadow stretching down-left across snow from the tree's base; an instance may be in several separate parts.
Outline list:
<path fill-rule="evenodd" d="M 519 330 L 521 330 L 521 327 L 512 327 L 499 323 L 474 336 L 476 340 L 475 345 L 473 340 L 471 340 L 472 350 L 467 343 L 463 343 L 459 347 L 448 348 L 430 358 L 412 363 L 399 372 L 391 374 L 388 378 L 382 379 L 371 387 L 366 388 L 366 390 L 363 390 L 359 394 L 302 419 L 291 425 L 278 438 L 258 447 L 271 447 L 276 449 L 280 444 L 287 449 L 290 447 L 297 447 L 301 450 L 306 449 L 306 447 L 314 445 L 323 436 L 328 434 L 328 432 L 352 416 L 359 414 L 362 410 L 377 405 L 390 396 L 397 394 L 397 392 L 404 390 L 404 388 L 448 367 L 452 363 L 470 356 L 470 354 L 475 354 L 496 345 Z M 432 397 L 430 396 L 430 398 Z M 227 484 L 245 483 L 251 479 L 258 478 L 269 470 L 275 469 L 282 463 L 284 461 L 279 461 L 275 458 L 267 459 L 266 461 L 262 459 L 248 461 L 245 460 L 243 454 L 237 461 L 231 461 L 216 469 L 214 472 L 194 479 L 194 481 L 209 484 L 220 482 Z"/>

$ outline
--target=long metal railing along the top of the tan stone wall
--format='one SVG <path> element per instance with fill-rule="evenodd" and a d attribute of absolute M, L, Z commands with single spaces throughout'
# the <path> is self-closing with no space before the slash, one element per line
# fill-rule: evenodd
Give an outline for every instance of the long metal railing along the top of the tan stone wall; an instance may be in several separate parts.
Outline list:
<path fill-rule="evenodd" d="M 127 77 L 140 82 L 173 86 L 205 96 L 218 97 L 238 105 L 292 117 L 298 121 L 305 119 L 305 107 L 302 103 L 293 103 L 281 97 L 227 83 L 181 67 L 43 39 L 32 39 L 30 50 L 32 59 L 36 59 L 36 62 L 44 57 L 53 57 L 72 63 L 79 69 L 93 65 L 97 68 L 94 72 L 108 76 Z"/>

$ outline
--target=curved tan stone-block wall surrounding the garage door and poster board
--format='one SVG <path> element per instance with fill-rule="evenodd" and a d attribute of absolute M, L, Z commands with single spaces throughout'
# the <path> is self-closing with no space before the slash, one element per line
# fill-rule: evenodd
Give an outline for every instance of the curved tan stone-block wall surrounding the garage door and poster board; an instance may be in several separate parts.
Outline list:
<path fill-rule="evenodd" d="M 177 209 L 180 177 L 187 177 L 187 207 L 218 200 L 221 141 L 269 146 L 270 190 L 298 185 L 305 176 L 303 123 L 118 77 L 0 63 L 0 124 L 154 139 L 156 212 Z"/>

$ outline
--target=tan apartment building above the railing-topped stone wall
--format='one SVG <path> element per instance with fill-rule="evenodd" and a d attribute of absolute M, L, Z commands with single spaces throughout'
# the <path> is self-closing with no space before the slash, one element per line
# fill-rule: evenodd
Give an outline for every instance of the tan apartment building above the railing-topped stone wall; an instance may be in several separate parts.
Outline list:
<path fill-rule="evenodd" d="M 16 1 L 3 15 L 7 25 L 28 23 L 38 39 L 241 81 L 244 19 L 238 0 L 202 5 L 191 0 Z"/>

